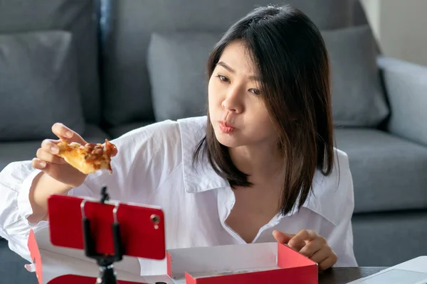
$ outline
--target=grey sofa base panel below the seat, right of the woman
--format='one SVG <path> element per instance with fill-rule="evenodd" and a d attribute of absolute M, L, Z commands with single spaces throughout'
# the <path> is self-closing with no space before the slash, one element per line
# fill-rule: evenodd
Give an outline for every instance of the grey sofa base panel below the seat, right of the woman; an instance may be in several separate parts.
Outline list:
<path fill-rule="evenodd" d="M 359 266 L 395 266 L 427 256 L 427 210 L 354 214 L 354 254 Z M 404 245 L 396 243 L 404 241 Z M 393 283 L 393 282 L 390 282 Z"/>

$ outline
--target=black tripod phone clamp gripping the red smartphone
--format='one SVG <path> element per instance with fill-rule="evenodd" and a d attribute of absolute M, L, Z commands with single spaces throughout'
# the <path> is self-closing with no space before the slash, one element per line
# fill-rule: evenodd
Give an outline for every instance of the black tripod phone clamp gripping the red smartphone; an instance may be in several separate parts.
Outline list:
<path fill-rule="evenodd" d="M 108 200 L 110 200 L 110 196 L 107 193 L 107 187 L 102 187 L 100 203 L 105 204 Z M 119 209 L 119 204 L 116 203 L 114 209 L 112 209 L 114 222 L 112 223 L 111 229 L 115 253 L 110 255 L 107 253 L 98 253 L 96 251 L 95 239 L 93 238 L 90 229 L 90 220 L 85 216 L 85 203 L 86 200 L 83 200 L 80 203 L 80 209 L 82 212 L 83 241 L 85 246 L 85 255 L 89 258 L 95 259 L 97 261 L 97 265 L 100 267 L 100 274 L 98 275 L 96 283 L 117 284 L 113 263 L 121 261 L 125 255 L 125 249 L 120 236 L 120 223 L 117 221 L 117 210 Z"/>

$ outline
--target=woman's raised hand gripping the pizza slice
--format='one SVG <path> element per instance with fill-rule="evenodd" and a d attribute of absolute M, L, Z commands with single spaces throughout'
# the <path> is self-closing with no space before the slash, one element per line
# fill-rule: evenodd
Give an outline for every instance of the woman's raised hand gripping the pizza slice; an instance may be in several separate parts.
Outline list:
<path fill-rule="evenodd" d="M 54 180 L 58 180 L 70 187 L 78 187 L 85 181 L 87 175 L 73 168 L 58 155 L 59 148 L 56 145 L 60 141 L 68 143 L 77 142 L 85 145 L 87 142 L 73 130 L 63 124 L 53 124 L 52 132 L 58 136 L 58 140 L 45 139 L 41 143 L 41 148 L 38 148 L 36 157 L 32 160 L 33 168 L 42 170 L 43 173 L 49 175 Z"/>

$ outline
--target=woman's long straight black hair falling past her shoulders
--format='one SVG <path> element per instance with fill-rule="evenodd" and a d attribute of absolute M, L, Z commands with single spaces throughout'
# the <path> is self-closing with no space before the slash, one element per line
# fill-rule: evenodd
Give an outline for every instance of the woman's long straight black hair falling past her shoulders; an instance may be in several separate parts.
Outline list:
<path fill-rule="evenodd" d="M 285 178 L 280 212 L 298 209 L 312 188 L 315 171 L 333 168 L 330 62 L 320 31 L 291 6 L 254 9 L 233 24 L 214 46 L 207 64 L 211 77 L 224 48 L 241 40 L 258 70 L 262 99 L 279 133 Z M 233 165 L 228 149 L 216 140 L 209 119 L 194 161 L 206 154 L 214 170 L 233 186 L 251 186 Z"/>

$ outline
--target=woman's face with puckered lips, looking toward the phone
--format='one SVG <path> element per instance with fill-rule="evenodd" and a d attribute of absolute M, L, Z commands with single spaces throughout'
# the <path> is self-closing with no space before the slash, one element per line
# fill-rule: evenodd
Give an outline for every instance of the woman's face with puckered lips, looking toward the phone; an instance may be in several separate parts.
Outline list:
<path fill-rule="evenodd" d="M 278 141 L 255 71 L 247 49 L 234 41 L 209 80 L 209 116 L 224 146 L 273 146 Z"/>

